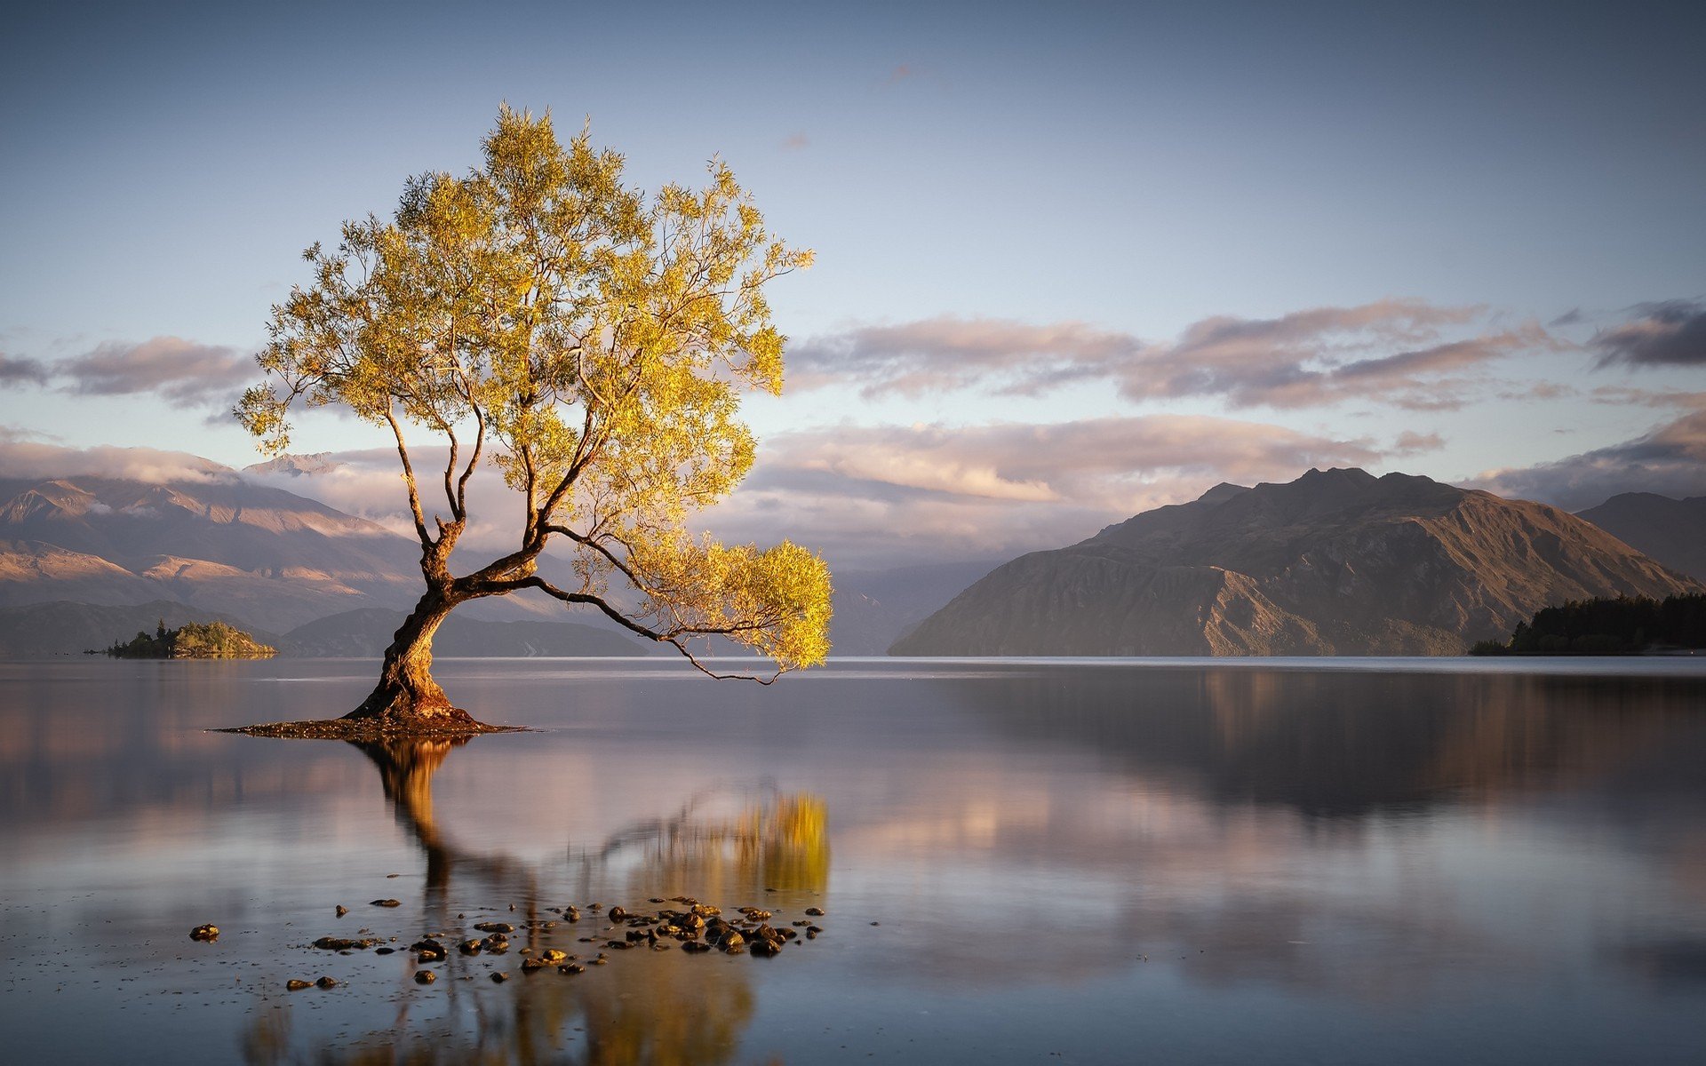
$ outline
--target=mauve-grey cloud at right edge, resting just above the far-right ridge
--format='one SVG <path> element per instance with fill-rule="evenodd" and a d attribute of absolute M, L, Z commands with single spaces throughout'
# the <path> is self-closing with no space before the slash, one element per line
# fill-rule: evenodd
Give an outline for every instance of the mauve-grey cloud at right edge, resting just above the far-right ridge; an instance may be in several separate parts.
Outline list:
<path fill-rule="evenodd" d="M 1469 484 L 1573 512 L 1617 493 L 1701 496 L 1706 495 L 1706 408 L 1634 440 L 1556 462 L 1486 471 Z"/>

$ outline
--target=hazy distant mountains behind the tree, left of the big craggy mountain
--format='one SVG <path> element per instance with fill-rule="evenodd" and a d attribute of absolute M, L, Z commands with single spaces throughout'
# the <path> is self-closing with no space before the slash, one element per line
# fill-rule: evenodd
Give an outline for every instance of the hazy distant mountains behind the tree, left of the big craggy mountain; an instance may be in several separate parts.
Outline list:
<path fill-rule="evenodd" d="M 242 472 L 206 462 L 203 478 L 165 484 L 0 476 L 0 657 L 104 648 L 152 633 L 159 619 L 230 623 L 281 655 L 379 655 L 420 597 L 418 544 L 247 478 L 283 474 L 307 486 L 334 469 L 328 455 L 285 455 Z M 884 653 L 993 565 L 836 575 L 836 652 Z M 544 568 L 568 565 L 548 558 Z M 655 650 L 590 614 L 565 616 L 543 597 L 467 604 L 435 646 L 440 655 Z"/>

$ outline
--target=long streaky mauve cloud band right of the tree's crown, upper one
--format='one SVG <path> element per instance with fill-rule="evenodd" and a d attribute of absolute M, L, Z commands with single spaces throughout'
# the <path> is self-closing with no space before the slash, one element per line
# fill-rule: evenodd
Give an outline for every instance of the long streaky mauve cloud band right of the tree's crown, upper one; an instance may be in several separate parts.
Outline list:
<path fill-rule="evenodd" d="M 1563 346 L 1534 322 L 1474 329 L 1484 317 L 1481 307 L 1378 300 L 1274 319 L 1210 317 L 1167 343 L 1085 322 L 937 317 L 812 338 L 790 358 L 797 387 L 848 380 L 867 399 L 949 389 L 1034 396 L 1109 380 L 1133 401 L 1314 408 L 1365 399 L 1442 409 L 1465 403 L 1483 365 Z"/>

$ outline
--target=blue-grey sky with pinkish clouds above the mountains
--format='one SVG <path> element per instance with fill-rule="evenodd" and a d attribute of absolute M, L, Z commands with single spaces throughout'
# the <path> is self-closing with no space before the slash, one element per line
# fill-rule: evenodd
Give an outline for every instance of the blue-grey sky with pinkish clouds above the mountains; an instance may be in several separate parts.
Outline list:
<path fill-rule="evenodd" d="M 508 102 L 640 188 L 717 155 L 815 251 L 727 539 L 1000 559 L 1312 466 L 1703 495 L 1703 46 L 1697 3 L 36 5 L 0 476 L 256 462 L 302 249 Z M 386 445 L 317 413 L 343 467 L 280 484 L 397 524 Z"/>

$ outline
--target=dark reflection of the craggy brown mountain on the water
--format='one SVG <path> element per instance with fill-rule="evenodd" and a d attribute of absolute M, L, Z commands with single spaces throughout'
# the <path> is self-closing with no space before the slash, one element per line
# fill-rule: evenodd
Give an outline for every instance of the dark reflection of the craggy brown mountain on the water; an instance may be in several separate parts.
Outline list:
<path fill-rule="evenodd" d="M 1216 803 L 1307 815 L 1423 810 L 1636 774 L 1691 785 L 1667 737 L 1699 728 L 1699 684 L 1672 679 L 1365 670 L 1155 669 L 959 682 L 981 721 L 1071 745 Z"/>

